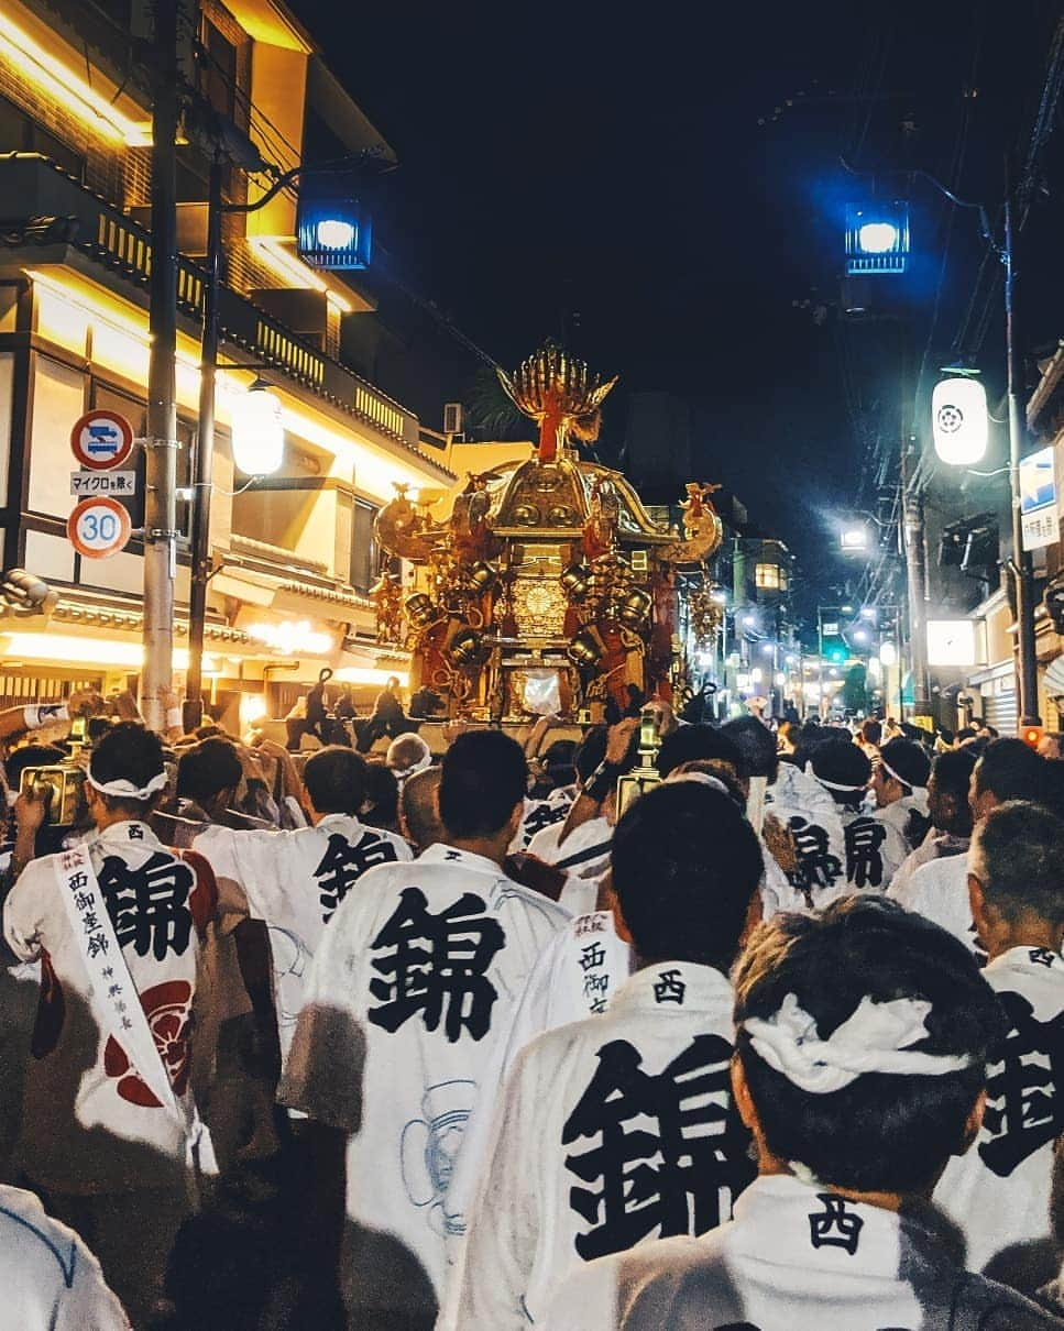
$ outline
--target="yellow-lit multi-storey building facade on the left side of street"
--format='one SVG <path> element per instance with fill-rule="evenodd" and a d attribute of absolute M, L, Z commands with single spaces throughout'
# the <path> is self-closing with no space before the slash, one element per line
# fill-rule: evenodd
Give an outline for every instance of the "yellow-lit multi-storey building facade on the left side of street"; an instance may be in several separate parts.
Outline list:
<path fill-rule="evenodd" d="M 111 11 L 115 11 L 112 15 Z M 121 12 L 120 12 L 121 11 Z M 342 92 L 314 41 L 273 0 L 202 0 L 188 13 L 182 71 L 194 96 L 288 170 L 310 120 L 348 152 L 390 148 Z M 136 9 L 9 0 L 0 15 L 0 526 L 3 567 L 60 591 L 51 623 L 0 620 L 0 705 L 64 687 L 136 684 L 141 662 L 142 459 L 128 502 L 133 539 L 85 559 L 67 538 L 69 450 L 89 409 L 145 433 L 150 75 L 133 57 Z M 132 25 L 132 27 L 131 27 Z M 193 140 L 194 136 L 189 134 Z M 208 153 L 178 146 L 178 554 L 174 651 L 184 683 L 192 476 L 197 446 Z M 226 172 L 225 200 L 256 202 L 269 181 Z M 261 184 L 260 184 L 261 181 Z M 368 696 L 405 673 L 380 648 L 369 591 L 377 508 L 393 483 L 446 488 L 454 475 L 417 415 L 341 363 L 342 323 L 372 295 L 296 254 L 296 196 L 228 213 L 213 454 L 205 677 L 236 716 L 284 715 L 318 672 Z M 265 366 L 241 370 L 240 366 Z M 234 406 L 261 374 L 278 394 L 284 462 L 236 473 Z"/>

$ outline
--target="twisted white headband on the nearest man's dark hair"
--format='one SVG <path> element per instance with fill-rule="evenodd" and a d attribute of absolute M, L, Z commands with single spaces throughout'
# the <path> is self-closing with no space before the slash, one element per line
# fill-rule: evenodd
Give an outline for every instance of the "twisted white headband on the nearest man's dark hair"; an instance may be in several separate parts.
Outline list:
<path fill-rule="evenodd" d="M 775 1016 L 767 1021 L 748 1017 L 743 1029 L 758 1057 L 788 1082 L 812 1095 L 828 1095 L 864 1073 L 943 1077 L 972 1067 L 976 1059 L 968 1055 L 910 1049 L 927 1038 L 930 1012 L 923 998 L 876 1002 L 866 994 L 831 1038 L 820 1040 L 816 1020 L 799 1008 L 798 994 L 787 994 Z"/>

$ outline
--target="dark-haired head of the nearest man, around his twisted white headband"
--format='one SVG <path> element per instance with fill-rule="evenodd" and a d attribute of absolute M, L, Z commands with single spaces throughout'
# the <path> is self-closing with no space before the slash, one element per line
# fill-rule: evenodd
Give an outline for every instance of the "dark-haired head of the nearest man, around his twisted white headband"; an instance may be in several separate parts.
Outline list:
<path fill-rule="evenodd" d="M 894 901 L 851 896 L 816 914 L 776 914 L 760 925 L 732 984 L 736 1098 L 743 1109 L 744 1082 L 764 1149 L 826 1187 L 928 1195 L 973 1137 L 985 1062 L 1007 1030 L 968 948 Z M 969 1066 L 937 1075 L 868 1071 L 824 1094 L 803 1090 L 756 1053 L 743 1025 L 751 1017 L 772 1022 L 788 996 L 823 1041 L 864 998 L 927 1002 L 927 1038 L 906 1047 Z"/>

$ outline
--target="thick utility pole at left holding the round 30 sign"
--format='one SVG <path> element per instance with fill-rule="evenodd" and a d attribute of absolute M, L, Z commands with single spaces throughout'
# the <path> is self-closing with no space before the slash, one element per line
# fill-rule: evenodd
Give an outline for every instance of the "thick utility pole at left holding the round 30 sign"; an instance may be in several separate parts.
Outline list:
<path fill-rule="evenodd" d="M 144 492 L 144 668 L 140 709 L 166 727 L 173 685 L 177 574 L 177 21 L 180 0 L 154 4 L 152 273 L 148 287 L 148 430 Z"/>

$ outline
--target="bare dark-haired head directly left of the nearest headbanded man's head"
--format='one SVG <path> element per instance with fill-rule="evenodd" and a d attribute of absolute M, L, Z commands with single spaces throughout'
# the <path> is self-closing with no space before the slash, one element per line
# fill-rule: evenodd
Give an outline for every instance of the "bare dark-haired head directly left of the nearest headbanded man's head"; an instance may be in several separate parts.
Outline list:
<path fill-rule="evenodd" d="M 613 888 L 643 964 L 694 961 L 727 972 L 764 861 L 732 799 L 702 781 L 670 781 L 617 824 Z"/>

